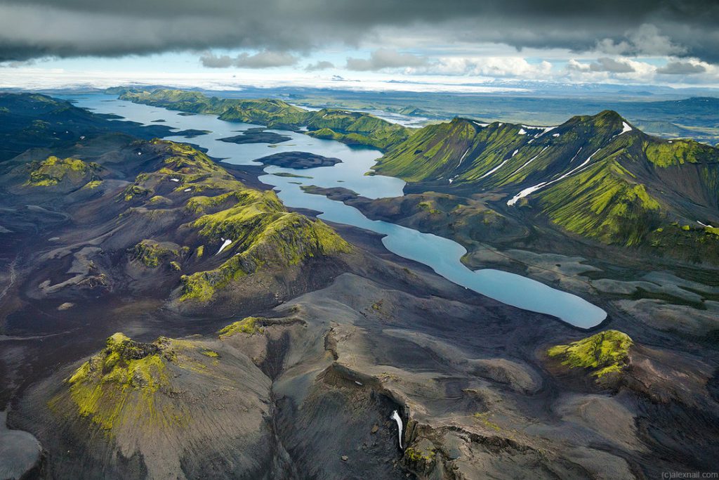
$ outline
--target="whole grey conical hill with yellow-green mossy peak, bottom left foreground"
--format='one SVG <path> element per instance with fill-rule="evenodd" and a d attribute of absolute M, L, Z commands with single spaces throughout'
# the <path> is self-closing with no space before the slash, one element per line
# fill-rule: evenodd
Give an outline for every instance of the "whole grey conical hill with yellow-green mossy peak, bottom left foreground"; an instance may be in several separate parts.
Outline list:
<path fill-rule="evenodd" d="M 217 338 L 142 343 L 116 333 L 65 379 L 46 381 L 33 415 L 43 438 L 70 450 L 55 459 L 62 471 L 259 478 L 272 458 L 270 384 Z"/>

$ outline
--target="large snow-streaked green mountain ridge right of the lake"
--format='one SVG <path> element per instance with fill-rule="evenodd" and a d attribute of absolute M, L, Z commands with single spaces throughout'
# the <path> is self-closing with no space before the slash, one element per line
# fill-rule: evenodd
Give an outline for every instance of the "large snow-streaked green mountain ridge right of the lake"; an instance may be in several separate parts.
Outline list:
<path fill-rule="evenodd" d="M 604 243 L 671 250 L 679 239 L 657 229 L 677 222 L 692 235 L 684 243 L 719 261 L 705 227 L 719 223 L 719 149 L 645 135 L 616 112 L 557 127 L 454 119 L 419 130 L 376 170 L 427 188 L 504 194 L 500 209 L 535 207 L 526 213 Z"/>

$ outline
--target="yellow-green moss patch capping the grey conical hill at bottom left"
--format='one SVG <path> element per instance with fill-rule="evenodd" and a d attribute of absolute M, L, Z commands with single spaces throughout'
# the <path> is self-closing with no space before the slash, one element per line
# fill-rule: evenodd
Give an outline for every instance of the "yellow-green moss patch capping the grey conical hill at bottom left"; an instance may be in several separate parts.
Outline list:
<path fill-rule="evenodd" d="M 116 333 L 64 381 L 67 389 L 48 406 L 56 415 L 88 419 L 110 437 L 121 431 L 186 427 L 192 418 L 178 395 L 185 389 L 178 379 L 188 373 L 216 376 L 219 358 L 191 340 L 160 337 L 142 343 Z"/>

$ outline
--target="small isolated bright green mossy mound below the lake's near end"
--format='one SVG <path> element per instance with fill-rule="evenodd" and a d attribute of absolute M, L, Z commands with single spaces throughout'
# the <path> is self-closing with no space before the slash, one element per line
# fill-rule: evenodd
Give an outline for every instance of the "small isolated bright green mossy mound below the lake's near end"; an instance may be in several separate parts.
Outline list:
<path fill-rule="evenodd" d="M 547 354 L 561 360 L 564 366 L 586 368 L 592 371 L 592 376 L 601 378 L 626 368 L 632 345 L 633 341 L 626 333 L 606 330 L 569 345 L 549 348 Z"/>

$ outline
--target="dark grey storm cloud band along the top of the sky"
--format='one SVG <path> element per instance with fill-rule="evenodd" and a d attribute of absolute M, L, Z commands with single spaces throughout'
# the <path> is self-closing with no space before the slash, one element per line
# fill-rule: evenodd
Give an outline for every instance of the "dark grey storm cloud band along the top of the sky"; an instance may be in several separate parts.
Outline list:
<path fill-rule="evenodd" d="M 0 60 L 211 47 L 306 52 L 357 45 L 384 29 L 431 32 L 438 42 L 599 45 L 717 62 L 718 23 L 715 0 L 0 0 Z"/>

